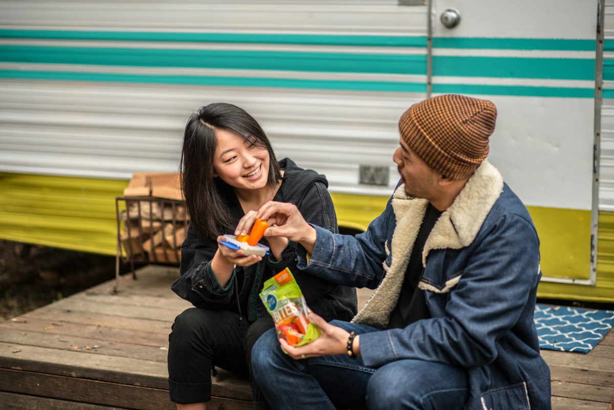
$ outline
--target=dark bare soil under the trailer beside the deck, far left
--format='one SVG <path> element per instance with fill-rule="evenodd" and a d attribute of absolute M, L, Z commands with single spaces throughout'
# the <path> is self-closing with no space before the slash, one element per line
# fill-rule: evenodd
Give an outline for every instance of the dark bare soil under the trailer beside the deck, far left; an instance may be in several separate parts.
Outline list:
<path fill-rule="evenodd" d="M 0 241 L 0 320 L 114 277 L 115 257 Z"/>

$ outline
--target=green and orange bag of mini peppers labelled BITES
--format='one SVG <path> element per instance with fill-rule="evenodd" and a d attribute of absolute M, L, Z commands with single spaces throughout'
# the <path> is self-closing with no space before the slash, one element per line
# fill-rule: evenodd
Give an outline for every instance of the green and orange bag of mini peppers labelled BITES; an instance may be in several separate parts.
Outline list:
<path fill-rule="evenodd" d="M 290 269 L 266 280 L 260 298 L 273 316 L 278 338 L 292 346 L 303 346 L 321 335 L 320 329 L 307 319 L 311 309 Z"/>

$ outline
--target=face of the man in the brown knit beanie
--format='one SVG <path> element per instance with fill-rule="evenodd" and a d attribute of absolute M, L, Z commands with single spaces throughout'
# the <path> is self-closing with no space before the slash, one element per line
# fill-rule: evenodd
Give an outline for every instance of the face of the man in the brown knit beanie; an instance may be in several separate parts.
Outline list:
<path fill-rule="evenodd" d="M 437 196 L 439 172 L 422 161 L 403 139 L 400 139 L 400 147 L 392 155 L 392 160 L 397 164 L 407 195 L 429 200 Z"/>

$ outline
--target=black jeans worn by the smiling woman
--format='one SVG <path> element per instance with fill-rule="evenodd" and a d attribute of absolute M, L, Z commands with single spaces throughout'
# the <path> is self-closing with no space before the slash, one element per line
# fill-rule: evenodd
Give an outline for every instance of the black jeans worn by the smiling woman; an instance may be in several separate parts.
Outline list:
<path fill-rule="evenodd" d="M 211 369 L 217 366 L 249 379 L 254 406 L 267 409 L 265 397 L 252 375 L 252 346 L 273 318 L 253 323 L 228 311 L 191 308 L 175 318 L 168 336 L 168 384 L 171 401 L 179 404 L 211 400 Z"/>

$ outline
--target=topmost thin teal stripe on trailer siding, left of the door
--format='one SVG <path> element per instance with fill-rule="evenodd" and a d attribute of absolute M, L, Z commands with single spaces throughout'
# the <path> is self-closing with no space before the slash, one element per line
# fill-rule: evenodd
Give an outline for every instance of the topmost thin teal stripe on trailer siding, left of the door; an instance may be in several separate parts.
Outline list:
<path fill-rule="evenodd" d="M 426 48 L 427 46 L 426 36 L 327 36 L 319 34 L 160 33 L 153 31 L 0 29 L 0 38 L 90 41 L 359 45 L 365 47 Z"/>

